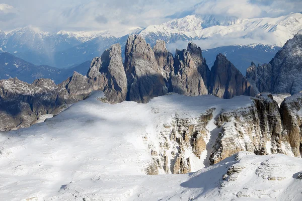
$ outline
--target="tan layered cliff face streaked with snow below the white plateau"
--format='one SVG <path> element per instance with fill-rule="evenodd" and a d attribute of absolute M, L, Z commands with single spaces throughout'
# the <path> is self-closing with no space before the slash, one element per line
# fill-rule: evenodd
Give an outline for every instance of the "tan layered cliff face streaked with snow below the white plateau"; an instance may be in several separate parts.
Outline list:
<path fill-rule="evenodd" d="M 250 104 L 232 110 L 209 104 L 199 118 L 176 114 L 159 131 L 160 145 L 150 147 L 153 161 L 157 162 L 149 168 L 157 174 L 187 173 L 240 151 L 300 157 L 301 104 L 302 93 L 286 98 L 279 109 L 273 96 L 263 93 L 252 97 Z"/>

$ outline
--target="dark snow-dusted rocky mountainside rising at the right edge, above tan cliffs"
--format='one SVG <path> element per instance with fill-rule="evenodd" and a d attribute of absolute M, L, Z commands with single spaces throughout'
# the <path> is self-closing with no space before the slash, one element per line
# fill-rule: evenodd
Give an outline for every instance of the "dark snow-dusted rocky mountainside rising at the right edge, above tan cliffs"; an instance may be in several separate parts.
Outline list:
<path fill-rule="evenodd" d="M 277 52 L 275 57 L 263 65 L 252 65 L 247 69 L 247 78 L 260 92 L 287 92 L 302 90 L 302 34 L 296 34 Z"/>

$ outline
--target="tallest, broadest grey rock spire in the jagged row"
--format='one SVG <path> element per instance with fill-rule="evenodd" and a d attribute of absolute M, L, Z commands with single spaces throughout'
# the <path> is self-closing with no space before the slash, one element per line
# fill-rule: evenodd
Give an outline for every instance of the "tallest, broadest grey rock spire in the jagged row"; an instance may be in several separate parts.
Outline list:
<path fill-rule="evenodd" d="M 125 72 L 128 80 L 127 100 L 147 103 L 168 92 L 154 51 L 139 35 L 129 36 L 125 48 Z"/>

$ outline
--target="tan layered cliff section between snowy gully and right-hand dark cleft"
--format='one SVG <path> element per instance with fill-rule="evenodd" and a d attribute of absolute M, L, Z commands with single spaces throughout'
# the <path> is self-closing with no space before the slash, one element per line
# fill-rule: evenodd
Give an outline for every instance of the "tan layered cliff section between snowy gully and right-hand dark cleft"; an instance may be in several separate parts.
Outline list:
<path fill-rule="evenodd" d="M 272 95 L 261 94 L 253 98 L 253 102 L 251 107 L 219 115 L 215 124 L 222 127 L 222 130 L 211 154 L 211 164 L 239 151 L 249 151 L 257 155 L 291 155 L 286 136 L 282 134 L 278 104 Z M 270 145 L 269 149 L 266 147 L 267 143 Z"/>

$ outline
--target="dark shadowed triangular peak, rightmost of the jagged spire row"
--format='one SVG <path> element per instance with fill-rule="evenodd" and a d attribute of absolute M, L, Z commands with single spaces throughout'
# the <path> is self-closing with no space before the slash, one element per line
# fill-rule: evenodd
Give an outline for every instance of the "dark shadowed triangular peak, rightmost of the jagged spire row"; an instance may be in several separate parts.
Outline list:
<path fill-rule="evenodd" d="M 218 54 L 211 68 L 210 93 L 220 98 L 236 95 L 255 96 L 255 91 L 241 72 L 222 54 Z"/>

